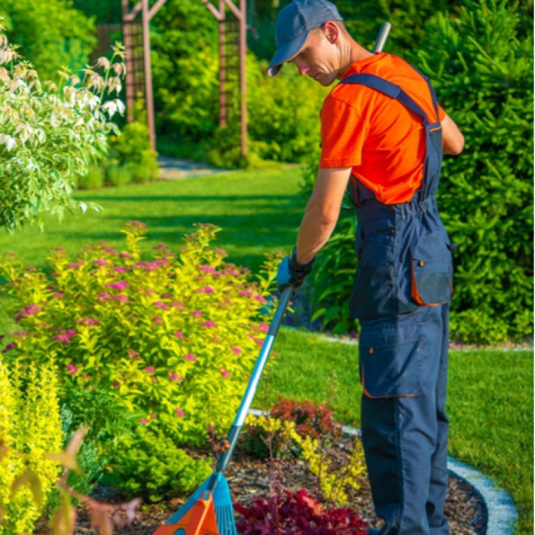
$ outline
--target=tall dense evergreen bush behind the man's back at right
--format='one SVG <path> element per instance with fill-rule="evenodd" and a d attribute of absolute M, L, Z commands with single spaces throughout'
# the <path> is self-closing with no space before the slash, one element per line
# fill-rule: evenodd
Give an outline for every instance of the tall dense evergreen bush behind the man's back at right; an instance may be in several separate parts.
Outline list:
<path fill-rule="evenodd" d="M 476 309 L 512 339 L 532 334 L 534 307 L 533 30 L 520 37 L 521 20 L 518 3 L 465 0 L 458 18 L 428 24 L 417 56 L 466 139 L 439 192 L 459 245 L 453 310 Z"/>

